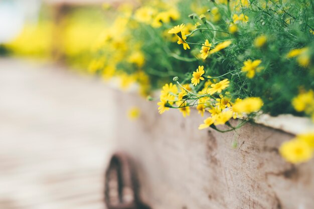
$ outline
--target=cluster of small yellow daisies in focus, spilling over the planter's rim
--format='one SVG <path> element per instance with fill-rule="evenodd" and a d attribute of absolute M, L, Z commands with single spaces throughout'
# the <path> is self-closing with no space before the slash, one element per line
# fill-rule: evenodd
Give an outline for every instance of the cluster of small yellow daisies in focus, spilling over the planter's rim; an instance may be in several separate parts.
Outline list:
<path fill-rule="evenodd" d="M 202 117 L 205 111 L 211 114 L 204 120 L 204 124 L 199 126 L 199 129 L 212 127 L 220 131 L 216 125 L 227 124 L 231 128 L 229 130 L 234 130 L 236 127 L 228 123 L 231 118 L 253 115 L 263 106 L 262 100 L 258 97 L 233 99 L 230 92 L 226 91 L 230 83 L 228 79 L 219 81 L 204 74 L 204 66 L 199 66 L 192 74 L 191 84 L 182 85 L 177 81 L 180 91 L 176 84 L 165 84 L 161 91 L 160 102 L 158 102 L 159 112 L 163 114 L 170 108 L 178 108 L 186 117 L 190 114 L 190 107 L 195 106 Z M 204 86 L 196 90 L 195 86 L 205 79 Z"/>

